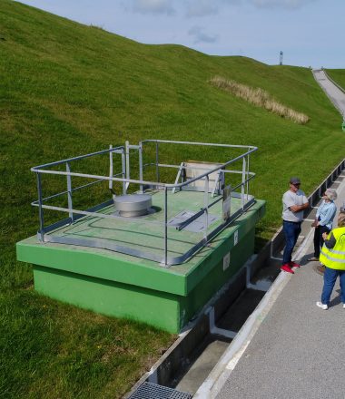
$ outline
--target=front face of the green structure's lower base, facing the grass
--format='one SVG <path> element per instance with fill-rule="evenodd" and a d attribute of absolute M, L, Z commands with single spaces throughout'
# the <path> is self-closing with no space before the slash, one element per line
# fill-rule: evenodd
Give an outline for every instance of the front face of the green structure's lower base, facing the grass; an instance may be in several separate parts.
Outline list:
<path fill-rule="evenodd" d="M 34 266 L 34 289 L 107 316 L 138 320 L 172 333 L 179 330 L 179 302 L 172 294 L 41 266 Z"/>

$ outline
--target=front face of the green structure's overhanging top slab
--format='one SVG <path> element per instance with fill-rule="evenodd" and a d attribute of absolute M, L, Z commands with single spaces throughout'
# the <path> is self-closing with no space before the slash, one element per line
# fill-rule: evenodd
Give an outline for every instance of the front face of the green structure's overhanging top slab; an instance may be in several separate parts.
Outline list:
<path fill-rule="evenodd" d="M 36 238 L 27 238 L 16 245 L 17 258 L 47 268 L 89 277 L 104 278 L 123 284 L 159 289 L 183 295 L 184 277 L 158 264 L 143 263 L 143 259 L 124 256 L 98 248 L 74 247 L 59 244 L 37 244 Z"/>

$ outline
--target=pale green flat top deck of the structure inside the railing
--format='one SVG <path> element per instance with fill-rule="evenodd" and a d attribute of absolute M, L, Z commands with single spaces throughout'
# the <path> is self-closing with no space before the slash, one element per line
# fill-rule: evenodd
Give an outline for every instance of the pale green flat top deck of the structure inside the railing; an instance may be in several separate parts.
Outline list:
<path fill-rule="evenodd" d="M 204 245 L 204 230 L 197 229 L 198 232 L 191 232 L 186 229 L 192 222 L 202 217 L 204 223 L 204 193 L 197 191 L 180 191 L 173 194 L 168 193 L 169 199 L 169 219 L 179 215 L 182 211 L 191 212 L 178 220 L 180 225 L 168 224 L 168 264 L 177 265 L 184 263 L 192 254 Z M 232 194 L 235 194 L 232 192 Z M 146 216 L 123 218 L 114 213 L 116 209 L 112 201 L 106 202 L 103 207 L 97 206 L 92 209 L 92 216 L 86 218 L 82 215 L 73 224 L 70 219 L 64 219 L 64 223 L 52 225 L 44 231 L 44 242 L 56 243 L 59 245 L 73 245 L 85 248 L 108 249 L 122 253 L 125 256 L 143 258 L 161 263 L 164 260 L 164 248 L 162 246 L 164 238 L 164 192 L 157 191 L 152 195 L 154 213 L 149 212 Z M 222 197 L 214 204 L 210 213 L 218 216 L 218 220 L 210 222 L 208 227 L 208 238 L 211 240 L 220 233 L 226 225 L 240 217 L 242 211 L 242 199 L 232 195 L 232 215 L 225 223 L 222 222 Z M 178 200 L 176 200 L 178 199 Z M 261 208 L 261 201 L 255 202 L 254 199 L 245 201 L 244 210 L 258 204 Z M 101 211 L 100 211 L 101 209 Z M 192 218 L 188 218 L 194 214 Z M 104 215 L 113 218 L 104 219 Z M 101 218 L 99 217 L 101 216 Z M 169 220 L 168 219 L 168 220 Z M 184 221 L 183 221 L 184 220 Z M 38 240 L 41 235 L 39 234 Z M 143 240 L 144 238 L 144 240 Z M 117 256 L 117 255 L 116 255 Z"/>

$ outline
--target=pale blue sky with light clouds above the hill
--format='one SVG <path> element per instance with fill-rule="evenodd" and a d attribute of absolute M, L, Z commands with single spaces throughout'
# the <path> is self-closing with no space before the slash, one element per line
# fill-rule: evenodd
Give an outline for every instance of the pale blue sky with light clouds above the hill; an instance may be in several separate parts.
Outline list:
<path fill-rule="evenodd" d="M 345 68 L 345 0 L 22 0 L 144 44 Z"/>

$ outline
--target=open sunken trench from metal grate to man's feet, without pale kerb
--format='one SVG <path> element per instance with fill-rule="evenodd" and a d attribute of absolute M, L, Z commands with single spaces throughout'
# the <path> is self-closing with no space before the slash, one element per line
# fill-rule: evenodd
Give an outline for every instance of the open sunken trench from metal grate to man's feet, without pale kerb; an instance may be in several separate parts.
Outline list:
<path fill-rule="evenodd" d="M 251 258 L 245 268 L 242 268 L 232 281 L 212 298 L 212 301 L 203 308 L 200 316 L 192 320 L 186 331 L 180 334 L 176 342 L 153 365 L 152 370 L 143 375 L 141 380 L 134 385 L 131 393 L 125 397 L 131 399 L 183 398 L 178 395 L 166 395 L 165 391 L 159 395 L 157 391 L 154 391 L 157 389 L 156 384 L 173 388 L 175 394 L 195 394 L 265 295 L 265 291 L 252 287 L 255 284 L 247 287 L 251 265 L 255 263 L 252 260 L 254 259 Z M 279 269 L 274 269 L 277 275 Z M 265 271 L 269 271 L 271 275 L 270 268 L 266 268 Z M 274 279 L 268 276 L 265 281 L 269 281 L 269 278 L 271 281 Z M 259 280 L 258 285 L 261 286 Z M 149 385 L 155 395 L 145 396 L 141 391 L 149 389 Z"/>

